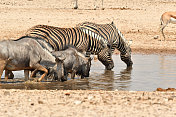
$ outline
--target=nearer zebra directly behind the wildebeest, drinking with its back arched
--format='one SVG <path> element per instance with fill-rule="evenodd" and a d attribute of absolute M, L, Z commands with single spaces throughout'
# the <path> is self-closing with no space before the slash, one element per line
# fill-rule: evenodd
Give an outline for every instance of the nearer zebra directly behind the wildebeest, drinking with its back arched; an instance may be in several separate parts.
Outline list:
<path fill-rule="evenodd" d="M 98 55 L 99 61 L 105 65 L 106 69 L 111 70 L 114 67 L 108 41 L 91 30 L 79 27 L 59 28 L 37 25 L 30 28 L 26 36 L 35 38 L 49 51 L 59 51 L 68 45 L 73 45 L 78 51 Z"/>

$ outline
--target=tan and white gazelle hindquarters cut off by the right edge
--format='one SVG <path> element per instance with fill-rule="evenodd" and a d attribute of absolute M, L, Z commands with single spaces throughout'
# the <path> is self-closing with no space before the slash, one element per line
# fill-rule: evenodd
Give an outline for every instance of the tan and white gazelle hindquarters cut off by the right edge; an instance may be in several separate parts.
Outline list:
<path fill-rule="evenodd" d="M 169 23 L 173 23 L 176 24 L 176 12 L 165 12 L 162 14 L 161 16 L 161 25 L 160 25 L 160 31 L 164 37 L 165 40 L 165 35 L 164 35 L 164 28 L 169 24 Z"/>

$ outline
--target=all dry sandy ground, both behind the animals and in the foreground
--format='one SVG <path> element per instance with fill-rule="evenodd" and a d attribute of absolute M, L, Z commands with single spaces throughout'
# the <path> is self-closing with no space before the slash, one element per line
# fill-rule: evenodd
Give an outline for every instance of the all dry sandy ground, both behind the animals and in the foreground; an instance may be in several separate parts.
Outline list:
<path fill-rule="evenodd" d="M 114 21 L 132 51 L 175 54 L 176 25 L 165 29 L 166 41 L 158 32 L 160 16 L 176 10 L 175 0 L 1 0 L 0 39 L 17 39 L 37 24 L 73 27 L 91 21 Z M 99 8 L 94 9 L 94 4 Z M 159 36 L 158 39 L 154 37 Z M 176 116 L 175 92 L 121 91 L 26 91 L 0 90 L 0 116 Z"/>

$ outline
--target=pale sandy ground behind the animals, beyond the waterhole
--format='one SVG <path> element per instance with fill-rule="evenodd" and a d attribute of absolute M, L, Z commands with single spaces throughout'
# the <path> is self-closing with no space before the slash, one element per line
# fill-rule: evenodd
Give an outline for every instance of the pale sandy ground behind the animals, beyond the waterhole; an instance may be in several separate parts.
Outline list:
<path fill-rule="evenodd" d="M 101 0 L 79 0 L 74 10 L 73 0 L 1 0 L 0 1 L 0 39 L 16 39 L 26 30 L 38 24 L 59 27 L 74 27 L 76 24 L 91 21 L 111 23 L 114 21 L 127 40 L 132 40 L 133 52 L 175 53 L 175 25 L 165 28 L 166 41 L 158 32 L 160 16 L 166 11 L 174 11 L 175 4 L 162 0 L 106 0 L 103 8 Z M 97 10 L 94 9 L 97 6 Z M 154 39 L 159 37 L 157 39 Z"/>

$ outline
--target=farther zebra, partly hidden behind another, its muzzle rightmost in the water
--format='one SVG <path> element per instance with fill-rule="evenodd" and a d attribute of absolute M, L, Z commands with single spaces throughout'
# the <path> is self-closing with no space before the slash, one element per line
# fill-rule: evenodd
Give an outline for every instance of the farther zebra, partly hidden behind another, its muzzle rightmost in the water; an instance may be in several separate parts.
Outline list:
<path fill-rule="evenodd" d="M 115 48 L 120 51 L 121 60 L 127 64 L 127 67 L 132 66 L 131 48 L 127 43 L 122 33 L 116 28 L 114 23 L 111 24 L 95 24 L 92 22 L 83 22 L 77 25 L 81 29 L 88 29 L 102 36 L 110 44 L 112 53 Z"/>

